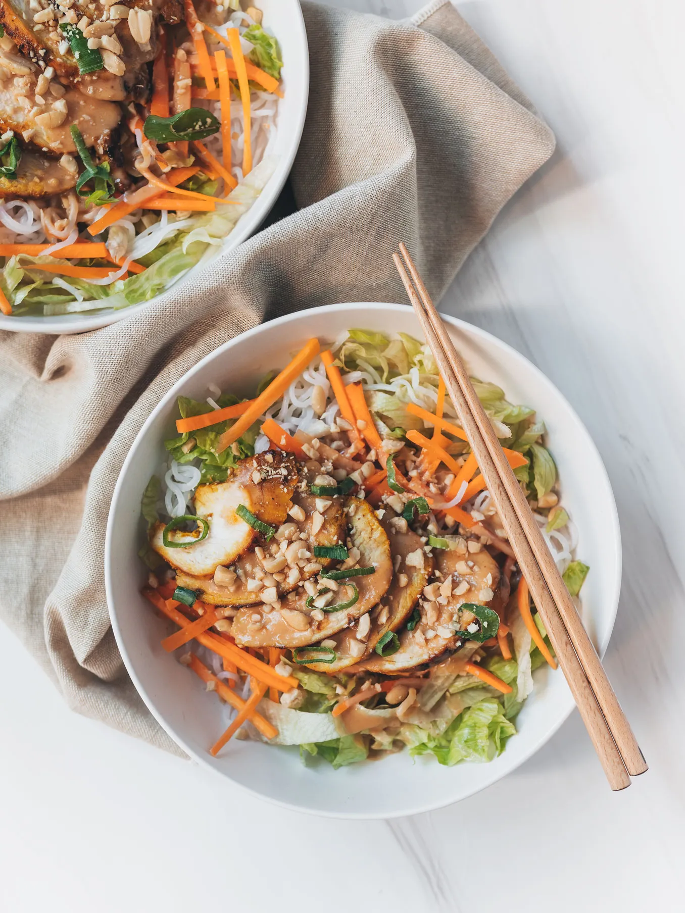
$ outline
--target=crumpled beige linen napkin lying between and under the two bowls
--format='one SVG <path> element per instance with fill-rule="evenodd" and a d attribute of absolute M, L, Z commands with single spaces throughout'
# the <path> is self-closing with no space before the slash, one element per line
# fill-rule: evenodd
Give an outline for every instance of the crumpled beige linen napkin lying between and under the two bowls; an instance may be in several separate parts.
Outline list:
<path fill-rule="evenodd" d="M 105 526 L 153 406 L 261 320 L 404 301 L 405 240 L 439 298 L 553 135 L 448 2 L 391 23 L 307 3 L 311 94 L 298 211 L 141 314 L 80 336 L 0 335 L 0 613 L 70 707 L 177 750 L 111 633 Z"/>

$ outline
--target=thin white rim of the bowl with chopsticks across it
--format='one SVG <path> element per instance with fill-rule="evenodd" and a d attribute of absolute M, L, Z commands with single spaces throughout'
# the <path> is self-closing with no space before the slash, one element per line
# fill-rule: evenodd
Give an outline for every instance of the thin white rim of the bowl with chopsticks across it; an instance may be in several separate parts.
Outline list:
<path fill-rule="evenodd" d="M 374 310 L 387 310 L 389 312 L 396 311 L 396 310 L 405 311 L 407 308 L 407 305 L 397 304 L 397 303 L 392 303 L 392 302 L 380 302 L 380 301 L 364 301 L 364 302 L 355 301 L 355 302 L 342 302 L 342 303 L 338 303 L 338 304 L 322 305 L 321 307 L 311 308 L 311 309 L 307 309 L 304 311 L 302 311 L 302 310 L 293 311 L 290 314 L 285 314 L 282 317 L 276 318 L 275 320 L 269 320 L 269 321 L 266 321 L 265 323 L 258 324 L 258 326 L 252 327 L 251 329 L 238 334 L 233 339 L 228 340 L 227 342 L 224 342 L 222 345 L 220 345 L 218 348 L 216 348 L 213 352 L 209 352 L 207 355 L 205 355 L 205 358 L 203 358 L 201 361 L 197 362 L 195 365 L 193 365 L 192 368 L 190 368 L 186 373 L 184 373 L 184 375 L 182 377 L 180 377 L 169 388 L 169 390 L 166 392 L 166 394 L 163 395 L 160 402 L 154 407 L 151 414 L 148 415 L 147 419 L 142 424 L 140 431 L 135 436 L 132 446 L 123 461 L 123 464 L 121 466 L 121 471 L 120 471 L 119 477 L 117 478 L 117 482 L 114 487 L 114 491 L 113 491 L 112 498 L 111 498 L 110 512 L 109 512 L 108 521 L 107 521 L 107 532 L 106 532 L 106 538 L 105 538 L 105 553 L 104 553 L 105 590 L 106 590 L 106 594 L 107 594 L 107 607 L 108 607 L 108 612 L 110 614 L 112 631 L 114 633 L 114 637 L 116 639 L 117 646 L 119 647 L 119 650 L 121 652 L 121 658 L 123 659 L 124 665 L 126 666 L 126 669 L 132 678 L 133 685 L 135 686 L 136 690 L 138 691 L 138 694 L 141 696 L 143 703 L 148 708 L 148 710 L 150 710 L 154 719 L 157 720 L 157 722 L 160 724 L 162 729 L 167 733 L 167 735 L 169 735 L 169 737 L 172 740 L 174 740 L 174 742 L 185 751 L 185 753 L 189 756 L 189 758 L 191 758 L 192 760 L 199 763 L 203 768 L 213 771 L 213 773 L 218 778 L 220 778 L 222 781 L 228 780 L 229 782 L 231 782 L 233 784 L 233 786 L 235 786 L 238 789 L 241 789 L 245 792 L 248 792 L 249 794 L 251 794 L 251 795 L 255 796 L 256 798 L 258 798 L 259 800 L 261 800 L 262 802 L 268 802 L 268 803 L 272 803 L 275 805 L 279 805 L 279 807 L 288 809 L 289 811 L 292 811 L 292 812 L 307 813 L 307 814 L 314 815 L 316 817 L 326 817 L 326 818 L 341 819 L 341 820 L 344 819 L 344 820 L 350 820 L 350 821 L 392 820 L 395 818 L 402 818 L 402 817 L 406 817 L 408 815 L 413 815 L 413 814 L 433 812 L 433 811 L 436 811 L 437 809 L 446 808 L 449 805 L 461 802 L 464 799 L 470 798 L 473 795 L 477 795 L 479 792 L 482 792 L 483 790 L 492 786 L 495 782 L 500 781 L 504 777 L 511 774 L 513 771 L 516 771 L 519 767 L 521 767 L 521 765 L 525 761 L 530 760 L 530 758 L 532 758 L 532 756 L 538 750 L 540 750 L 543 747 L 543 745 L 546 744 L 546 742 L 548 742 L 549 740 L 552 739 L 553 735 L 562 727 L 562 725 L 564 724 L 566 719 L 568 719 L 568 717 L 571 715 L 572 711 L 575 708 L 574 699 L 572 698 L 570 691 L 567 691 L 565 698 L 563 698 L 563 699 L 565 699 L 565 705 L 562 701 L 560 701 L 558 719 L 556 720 L 556 722 L 549 729 L 546 729 L 540 735 L 540 737 L 538 739 L 532 741 L 528 750 L 523 752 L 521 758 L 519 758 L 508 771 L 504 771 L 502 773 L 499 773 L 499 772 L 496 773 L 496 775 L 492 776 L 489 780 L 480 784 L 478 788 L 473 790 L 473 792 L 469 792 L 468 796 L 462 796 L 458 799 L 447 799 L 445 802 L 436 801 L 436 802 L 430 802 L 430 803 L 414 803 L 414 804 L 409 803 L 402 809 L 398 809 L 397 811 L 393 811 L 391 813 L 387 813 L 387 812 L 385 812 L 385 813 L 360 813 L 360 812 L 329 811 L 329 810 L 322 811 L 321 809 L 311 808 L 311 807 L 307 807 L 305 805 L 300 805 L 297 803 L 286 802 L 284 800 L 280 800 L 273 796 L 265 795 L 262 792 L 258 792 L 258 790 L 254 789 L 253 787 L 248 786 L 242 782 L 237 782 L 237 781 L 233 780 L 233 778 L 230 776 L 230 774 L 228 774 L 226 771 L 219 771 L 215 766 L 213 766 L 211 763 L 209 763 L 209 761 L 206 760 L 205 756 L 202 753 L 197 752 L 194 749 L 192 749 L 190 746 L 188 746 L 185 743 L 184 739 L 182 737 L 180 737 L 177 733 L 175 733 L 174 730 L 172 729 L 172 727 L 168 726 L 165 723 L 165 721 L 163 719 L 163 714 L 161 712 L 157 711 L 157 709 L 154 706 L 153 698 L 151 698 L 147 694 L 145 687 L 142 686 L 142 682 L 136 675 L 136 672 L 134 669 L 134 664 L 132 662 L 131 657 L 128 654 L 126 645 L 123 642 L 123 636 L 121 635 L 121 629 L 119 626 L 116 609 L 114 606 L 113 595 L 112 595 L 111 549 L 112 549 L 112 537 L 113 537 L 113 525 L 114 525 L 113 520 L 114 520 L 114 515 L 116 513 L 117 503 L 121 496 L 121 490 L 122 490 L 123 484 L 124 484 L 123 480 L 126 477 L 128 469 L 131 466 L 132 462 L 136 459 L 136 453 L 137 453 L 138 447 L 140 446 L 144 436 L 147 434 L 148 428 L 150 427 L 150 425 L 153 424 L 156 416 L 167 406 L 169 401 L 183 389 L 185 383 L 187 383 L 195 375 L 195 373 L 202 371 L 207 363 L 213 362 L 214 360 L 221 358 L 221 356 L 225 352 L 230 351 L 230 349 L 233 348 L 233 346 L 237 345 L 238 343 L 251 339 L 253 336 L 257 336 L 258 333 L 263 331 L 266 327 L 272 328 L 274 326 L 279 326 L 284 323 L 288 323 L 288 322 L 290 322 L 290 320 L 295 320 L 295 319 L 299 318 L 302 314 L 316 315 L 316 314 L 321 314 L 321 313 L 332 313 L 332 312 L 340 312 L 340 311 L 364 311 L 364 310 L 368 310 L 370 308 L 374 309 Z M 502 341 L 501 339 L 499 339 L 497 336 L 494 336 L 489 331 L 482 330 L 480 327 L 475 326 L 474 324 L 469 323 L 466 320 L 461 320 L 457 317 L 452 317 L 451 315 L 444 314 L 444 313 L 441 313 L 441 317 L 443 318 L 443 320 L 446 320 L 448 322 L 448 324 L 451 325 L 452 327 L 454 327 L 455 329 L 467 331 L 469 334 L 477 337 L 480 341 L 484 341 L 484 342 L 486 342 L 486 344 L 494 345 L 495 348 L 499 347 L 501 350 L 507 352 L 513 358 L 514 362 L 522 362 L 526 366 L 526 369 L 533 374 L 536 381 L 539 381 L 542 384 L 546 384 L 549 387 L 552 387 L 553 392 L 555 394 L 557 394 L 564 401 L 564 404 L 565 404 L 566 408 L 568 409 L 569 414 L 574 419 L 574 422 L 577 426 L 577 430 L 584 437 L 584 442 L 583 442 L 584 449 L 586 448 L 588 451 L 592 452 L 593 456 L 595 456 L 595 459 L 597 461 L 597 466 L 601 467 L 601 472 L 603 474 L 602 482 L 605 483 L 605 485 L 606 485 L 606 492 L 609 496 L 608 501 L 610 502 L 610 504 L 609 504 L 610 517 L 608 519 L 610 519 L 610 522 L 611 522 L 612 535 L 614 537 L 615 545 L 616 545 L 615 566 L 612 569 L 610 569 L 611 573 L 612 573 L 612 578 L 613 578 L 613 593 L 611 594 L 610 601 L 607 600 L 607 605 L 606 605 L 606 609 L 605 609 L 605 611 L 606 611 L 606 642 L 604 644 L 599 645 L 599 655 L 600 655 L 600 657 L 602 657 L 606 653 L 606 648 L 611 639 L 611 635 L 613 634 L 614 625 L 616 624 L 616 619 L 617 619 L 618 602 L 619 602 L 619 595 L 620 595 L 620 589 L 621 589 L 622 548 L 621 548 L 621 530 L 620 530 L 619 519 L 618 519 L 616 498 L 614 496 L 613 488 L 611 487 L 611 482 L 608 477 L 608 473 L 606 472 L 606 467 L 604 465 L 604 461 L 602 460 L 602 457 L 597 449 L 597 446 L 595 445 L 595 441 L 593 440 L 592 436 L 590 436 L 590 433 L 585 428 L 585 424 L 581 420 L 580 416 L 575 412 L 573 406 L 568 402 L 568 400 L 566 399 L 564 394 L 562 394 L 561 391 L 556 387 L 556 385 L 546 376 L 546 374 L 544 374 L 535 364 L 533 364 L 528 358 L 526 358 L 526 356 L 523 355 L 522 352 L 519 352 L 518 350 L 514 349 L 511 345 L 509 345 L 509 343 Z"/>

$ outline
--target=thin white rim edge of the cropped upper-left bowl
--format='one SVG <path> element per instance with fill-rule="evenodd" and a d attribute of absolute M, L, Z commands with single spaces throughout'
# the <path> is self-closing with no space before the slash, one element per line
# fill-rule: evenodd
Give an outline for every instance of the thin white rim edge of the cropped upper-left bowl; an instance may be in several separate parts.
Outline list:
<path fill-rule="evenodd" d="M 307 29 L 304 25 L 304 16 L 302 14 L 300 0 L 287 0 L 287 2 L 292 5 L 292 27 L 298 33 L 297 40 L 301 47 L 301 59 L 298 61 L 298 65 L 301 68 L 302 76 L 301 98 L 297 107 L 297 116 L 290 119 L 290 123 L 294 125 L 294 129 L 291 133 L 290 148 L 287 152 L 284 152 L 279 156 L 276 170 L 269 178 L 264 190 L 258 195 L 258 198 L 255 200 L 254 204 L 250 206 L 248 211 L 240 216 L 236 226 L 227 235 L 227 239 L 224 241 L 217 257 L 222 257 L 224 254 L 236 250 L 237 247 L 247 241 L 251 236 L 257 234 L 264 220 L 269 215 L 269 212 L 276 204 L 279 194 L 290 175 L 295 156 L 300 149 L 300 141 L 307 116 L 310 93 L 309 43 L 307 40 Z M 230 239 L 230 241 L 229 243 L 226 243 L 228 239 Z M 153 304 L 154 301 L 162 298 L 162 296 L 171 289 L 180 289 L 187 279 L 192 278 L 195 273 L 202 268 L 210 267 L 211 263 L 214 262 L 217 257 L 211 257 L 205 262 L 205 255 L 203 255 L 203 257 L 200 257 L 197 263 L 195 263 L 184 276 L 174 280 L 174 282 L 172 282 L 168 288 L 163 289 L 159 295 L 155 295 L 154 298 L 146 301 L 139 301 L 137 304 L 132 304 L 128 308 L 96 311 L 94 314 L 90 315 L 59 314 L 55 317 L 40 317 L 34 314 L 12 316 L 0 313 L 0 331 L 6 330 L 16 333 L 44 333 L 47 335 L 58 334 L 60 336 L 71 336 L 75 333 L 101 330 L 104 327 L 111 326 L 113 323 L 118 323 L 120 320 L 126 320 L 129 317 L 135 316 L 144 308 Z"/>

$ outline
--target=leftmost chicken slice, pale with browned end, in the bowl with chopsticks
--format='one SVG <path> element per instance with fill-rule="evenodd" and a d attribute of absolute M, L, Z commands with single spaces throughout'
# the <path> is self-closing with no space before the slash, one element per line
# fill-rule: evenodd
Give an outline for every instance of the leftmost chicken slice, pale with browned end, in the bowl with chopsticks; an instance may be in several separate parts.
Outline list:
<path fill-rule="evenodd" d="M 169 548 L 163 544 L 164 524 L 156 523 L 151 530 L 153 549 L 178 571 L 193 577 L 213 574 L 219 564 L 228 565 L 247 551 L 258 536 L 257 530 L 237 516 L 238 506 L 242 504 L 269 526 L 279 526 L 292 506 L 297 481 L 293 456 L 280 451 L 248 456 L 238 462 L 226 482 L 196 488 L 195 514 L 209 523 L 205 539 Z M 170 539 L 184 540 L 187 536 L 172 531 Z"/>

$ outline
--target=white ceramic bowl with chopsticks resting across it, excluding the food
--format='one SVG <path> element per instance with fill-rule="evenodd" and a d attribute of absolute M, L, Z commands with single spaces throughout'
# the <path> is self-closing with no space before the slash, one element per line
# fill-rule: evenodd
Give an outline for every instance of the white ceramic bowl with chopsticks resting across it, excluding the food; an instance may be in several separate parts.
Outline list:
<path fill-rule="evenodd" d="M 577 555 L 590 565 L 583 588 L 586 617 L 604 652 L 617 613 L 621 546 L 617 510 L 595 445 L 562 394 L 519 352 L 461 320 L 447 318 L 472 374 L 499 383 L 513 403 L 538 410 L 559 467 L 564 506 L 579 530 Z M 121 469 L 111 503 L 105 551 L 111 623 L 121 655 L 142 699 L 191 757 L 271 802 L 300 811 L 348 818 L 391 818 L 458 802 L 500 780 L 530 758 L 574 707 L 561 672 L 535 673 L 535 690 L 518 718 L 519 732 L 489 764 L 441 767 L 406 752 L 333 771 L 305 767 L 298 750 L 232 740 L 219 757 L 208 747 L 223 730 L 219 701 L 206 694 L 160 641 L 166 627 L 139 593 L 147 572 L 136 557 L 142 541 L 142 492 L 159 471 L 163 440 L 174 434 L 178 394 L 204 399 L 207 384 L 251 395 L 258 378 L 282 367 L 312 336 L 333 341 L 353 327 L 405 331 L 421 338 L 413 311 L 397 304 L 338 304 L 305 310 L 243 333 L 195 365 L 155 408 Z M 592 479 L 588 486 L 587 480 Z"/>

